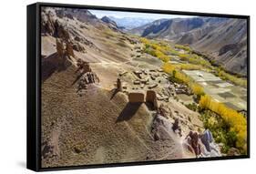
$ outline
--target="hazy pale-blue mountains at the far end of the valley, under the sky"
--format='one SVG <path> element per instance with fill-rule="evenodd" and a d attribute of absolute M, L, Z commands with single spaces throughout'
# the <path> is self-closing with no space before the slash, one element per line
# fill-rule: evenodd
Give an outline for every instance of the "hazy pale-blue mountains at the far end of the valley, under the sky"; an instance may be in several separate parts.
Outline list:
<path fill-rule="evenodd" d="M 108 16 L 111 20 L 115 21 L 119 27 L 124 27 L 126 29 L 132 29 L 138 26 L 143 26 L 148 23 L 151 23 L 154 21 L 154 19 L 150 18 L 142 18 L 142 17 L 114 17 L 114 16 Z"/>

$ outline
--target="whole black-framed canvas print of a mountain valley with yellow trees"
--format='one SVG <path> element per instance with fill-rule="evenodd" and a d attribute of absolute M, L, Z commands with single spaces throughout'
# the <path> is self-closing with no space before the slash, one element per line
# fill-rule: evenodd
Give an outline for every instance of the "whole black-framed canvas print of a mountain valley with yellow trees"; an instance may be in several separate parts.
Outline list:
<path fill-rule="evenodd" d="M 27 6 L 27 168 L 250 157 L 250 17 Z"/>

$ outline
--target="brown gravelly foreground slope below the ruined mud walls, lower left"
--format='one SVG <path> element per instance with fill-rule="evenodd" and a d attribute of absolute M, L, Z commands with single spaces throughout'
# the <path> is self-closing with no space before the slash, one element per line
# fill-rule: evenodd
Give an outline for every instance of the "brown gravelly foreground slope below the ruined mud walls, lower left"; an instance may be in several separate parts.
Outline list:
<path fill-rule="evenodd" d="M 128 104 L 122 93 L 110 99 L 112 92 L 97 85 L 79 97 L 74 70 L 54 74 L 42 87 L 42 142 L 50 141 L 56 154 L 43 159 L 43 167 L 182 157 L 172 136 L 151 137 L 153 117 L 144 104 Z"/>

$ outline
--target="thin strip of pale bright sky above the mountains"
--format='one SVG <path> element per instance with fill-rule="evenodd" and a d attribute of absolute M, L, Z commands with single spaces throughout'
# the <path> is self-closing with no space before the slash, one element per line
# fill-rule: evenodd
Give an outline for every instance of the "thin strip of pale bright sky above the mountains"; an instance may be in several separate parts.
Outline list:
<path fill-rule="evenodd" d="M 149 19 L 162 19 L 162 18 L 188 18 L 194 17 L 192 15 L 162 15 L 162 14 L 151 14 L 151 13 L 138 13 L 138 12 L 118 12 L 118 11 L 108 11 L 108 10 L 89 10 L 93 15 L 96 15 L 97 18 L 101 18 L 105 15 L 114 16 L 117 18 L 123 17 L 140 17 L 140 18 L 149 18 Z"/>

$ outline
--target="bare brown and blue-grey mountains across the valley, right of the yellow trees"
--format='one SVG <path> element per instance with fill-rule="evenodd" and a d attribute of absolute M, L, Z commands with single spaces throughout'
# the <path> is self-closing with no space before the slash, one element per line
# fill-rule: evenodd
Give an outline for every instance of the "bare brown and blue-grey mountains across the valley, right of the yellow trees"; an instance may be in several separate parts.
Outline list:
<path fill-rule="evenodd" d="M 246 20 L 220 17 L 159 19 L 128 32 L 189 44 L 231 73 L 247 75 Z"/>

